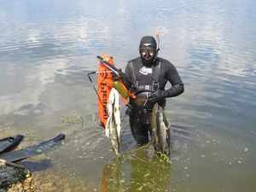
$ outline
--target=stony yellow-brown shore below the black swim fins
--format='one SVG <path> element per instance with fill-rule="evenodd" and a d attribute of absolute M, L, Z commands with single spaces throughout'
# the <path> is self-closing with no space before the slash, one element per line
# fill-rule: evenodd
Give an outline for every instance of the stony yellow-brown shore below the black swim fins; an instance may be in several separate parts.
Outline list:
<path fill-rule="evenodd" d="M 61 177 L 50 171 L 30 172 L 11 166 L 0 166 L 0 192 L 71 192 L 91 191 L 95 183 L 84 182 L 79 178 Z"/>

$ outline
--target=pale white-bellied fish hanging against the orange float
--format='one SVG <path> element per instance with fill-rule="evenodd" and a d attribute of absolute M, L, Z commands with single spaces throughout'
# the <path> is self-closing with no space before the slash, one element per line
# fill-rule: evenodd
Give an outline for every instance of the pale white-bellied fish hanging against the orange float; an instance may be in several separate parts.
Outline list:
<path fill-rule="evenodd" d="M 115 154 L 120 154 L 121 118 L 119 92 L 112 88 L 108 97 L 108 120 L 105 128 L 106 136 L 110 139 Z"/>

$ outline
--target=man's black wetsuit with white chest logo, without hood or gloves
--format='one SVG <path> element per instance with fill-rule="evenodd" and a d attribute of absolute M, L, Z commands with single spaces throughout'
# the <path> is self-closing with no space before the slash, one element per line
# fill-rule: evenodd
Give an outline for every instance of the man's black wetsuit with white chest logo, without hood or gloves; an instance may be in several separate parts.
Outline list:
<path fill-rule="evenodd" d="M 158 68 L 158 69 L 157 69 Z M 158 73 L 156 77 L 156 73 Z M 172 84 L 169 90 L 165 90 L 166 97 L 178 96 L 183 93 L 183 82 L 180 79 L 176 68 L 170 61 L 166 61 L 160 57 L 154 61 L 152 65 L 144 65 L 141 57 L 128 62 L 125 67 L 125 74 L 132 79 L 135 84 L 129 84 L 129 88 L 133 89 L 137 97 L 150 95 L 157 89 L 165 90 L 167 81 Z M 157 79 L 157 80 L 155 80 Z M 155 86 L 158 81 L 158 86 Z M 153 83 L 154 82 L 154 83 Z M 158 101 L 160 106 L 166 106 L 166 99 Z M 150 115 L 154 103 L 144 102 L 142 105 L 130 98 L 131 113 L 130 126 L 131 132 L 138 144 L 148 143 L 148 131 L 150 131 Z"/>

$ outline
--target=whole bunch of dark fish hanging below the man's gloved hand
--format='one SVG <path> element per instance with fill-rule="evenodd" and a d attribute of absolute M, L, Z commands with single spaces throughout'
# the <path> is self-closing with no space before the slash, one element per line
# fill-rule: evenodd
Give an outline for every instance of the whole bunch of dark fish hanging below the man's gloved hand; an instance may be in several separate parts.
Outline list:
<path fill-rule="evenodd" d="M 158 103 L 154 104 L 152 110 L 150 128 L 154 150 L 163 154 L 170 154 L 171 128 L 164 109 Z"/>

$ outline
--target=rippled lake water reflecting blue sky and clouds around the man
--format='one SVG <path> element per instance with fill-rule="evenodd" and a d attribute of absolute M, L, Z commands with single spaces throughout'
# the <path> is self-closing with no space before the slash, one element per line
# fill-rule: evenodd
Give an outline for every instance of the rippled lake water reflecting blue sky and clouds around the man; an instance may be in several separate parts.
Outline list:
<path fill-rule="evenodd" d="M 74 185 L 90 183 L 78 191 L 253 192 L 255 10 L 253 0 L 2 0 L 0 129 L 32 131 L 42 140 L 66 133 L 47 154 L 48 169 Z M 136 148 L 127 119 L 125 155 L 115 158 L 87 78 L 96 55 L 113 55 L 125 69 L 140 38 L 155 30 L 159 55 L 185 86 L 166 106 L 172 165 L 156 158 L 152 145 Z"/>

